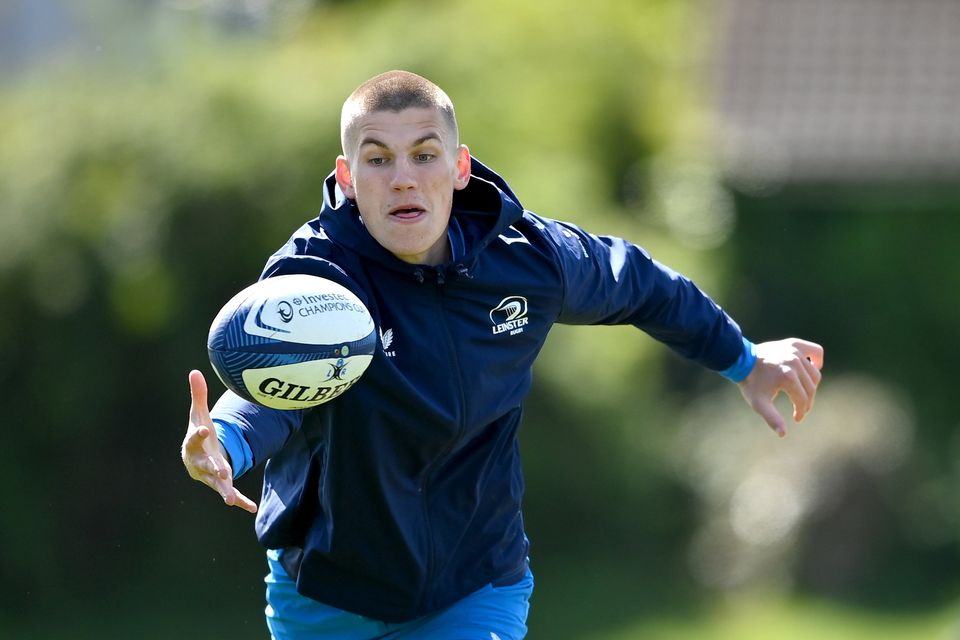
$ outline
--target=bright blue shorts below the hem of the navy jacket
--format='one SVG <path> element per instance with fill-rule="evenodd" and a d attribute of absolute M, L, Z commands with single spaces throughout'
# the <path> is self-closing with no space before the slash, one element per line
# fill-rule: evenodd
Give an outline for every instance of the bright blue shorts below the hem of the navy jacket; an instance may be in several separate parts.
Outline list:
<path fill-rule="evenodd" d="M 487 585 L 422 618 L 387 623 L 336 609 L 297 593 L 296 583 L 267 552 L 267 627 L 273 640 L 520 640 L 527 634 L 533 574 L 516 584 Z"/>

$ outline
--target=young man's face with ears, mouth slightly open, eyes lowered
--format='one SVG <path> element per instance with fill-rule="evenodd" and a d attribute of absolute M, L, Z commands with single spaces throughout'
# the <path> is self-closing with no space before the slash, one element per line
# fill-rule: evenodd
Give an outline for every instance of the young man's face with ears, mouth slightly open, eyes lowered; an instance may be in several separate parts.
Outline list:
<path fill-rule="evenodd" d="M 470 180 L 470 152 L 437 109 L 360 116 L 337 158 L 337 184 L 370 235 L 404 262 L 449 259 L 453 192 Z"/>

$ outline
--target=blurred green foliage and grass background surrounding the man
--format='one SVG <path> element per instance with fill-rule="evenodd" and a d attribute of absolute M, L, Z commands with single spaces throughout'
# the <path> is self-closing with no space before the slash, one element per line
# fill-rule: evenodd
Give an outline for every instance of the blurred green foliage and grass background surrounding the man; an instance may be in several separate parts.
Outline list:
<path fill-rule="evenodd" d="M 779 442 L 634 331 L 557 328 L 523 433 L 531 637 L 957 637 L 956 184 L 727 184 L 692 1 L 238 7 L 80 3 L 4 68 L 0 635 L 266 635 L 250 517 L 180 465 L 186 373 L 315 213 L 343 97 L 407 68 L 528 208 L 827 349 Z"/>

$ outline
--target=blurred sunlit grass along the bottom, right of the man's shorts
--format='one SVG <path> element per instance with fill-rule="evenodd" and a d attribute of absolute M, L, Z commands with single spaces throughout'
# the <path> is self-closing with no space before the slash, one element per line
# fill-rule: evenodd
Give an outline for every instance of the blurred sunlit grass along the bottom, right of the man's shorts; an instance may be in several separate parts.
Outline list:
<path fill-rule="evenodd" d="M 592 569 L 591 569 L 592 567 Z M 581 558 L 542 567 L 532 640 L 960 640 L 960 593 L 930 607 L 846 606 L 824 598 L 715 595 L 703 600 L 668 572 Z M 576 576 L 571 579 L 570 576 Z"/>

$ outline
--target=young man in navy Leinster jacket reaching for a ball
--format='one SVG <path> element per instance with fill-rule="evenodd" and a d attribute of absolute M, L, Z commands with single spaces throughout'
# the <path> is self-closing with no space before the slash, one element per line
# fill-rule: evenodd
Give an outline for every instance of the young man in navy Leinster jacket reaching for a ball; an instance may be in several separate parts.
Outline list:
<path fill-rule="evenodd" d="M 347 99 L 317 219 L 262 277 L 307 273 L 361 297 L 381 332 L 341 398 L 274 411 L 190 374 L 182 457 L 228 505 L 266 463 L 256 529 L 274 638 L 501 640 L 526 633 L 533 577 L 517 428 L 549 328 L 634 324 L 740 384 L 781 436 L 813 405 L 822 349 L 753 345 L 689 280 L 625 240 L 525 211 L 459 144 L 428 80 L 379 75 Z M 217 437 L 212 437 L 216 433 Z"/>

